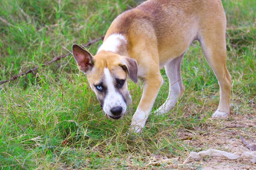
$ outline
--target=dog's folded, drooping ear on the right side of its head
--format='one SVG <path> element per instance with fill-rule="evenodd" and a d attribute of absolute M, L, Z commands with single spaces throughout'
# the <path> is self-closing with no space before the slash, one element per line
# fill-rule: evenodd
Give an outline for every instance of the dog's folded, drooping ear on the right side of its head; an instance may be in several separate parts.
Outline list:
<path fill-rule="evenodd" d="M 128 72 L 130 79 L 137 83 L 138 64 L 137 61 L 130 57 L 122 56 L 120 66 Z"/>

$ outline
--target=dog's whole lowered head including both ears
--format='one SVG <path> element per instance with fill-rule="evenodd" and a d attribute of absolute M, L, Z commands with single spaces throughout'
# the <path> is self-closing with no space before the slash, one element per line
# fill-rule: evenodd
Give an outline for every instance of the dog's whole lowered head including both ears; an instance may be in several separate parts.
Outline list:
<path fill-rule="evenodd" d="M 72 51 L 79 70 L 87 75 L 104 112 L 112 119 L 121 118 L 132 100 L 127 75 L 137 83 L 136 60 L 109 51 L 92 56 L 77 44 L 73 45 Z"/>

